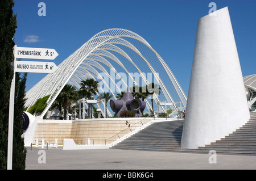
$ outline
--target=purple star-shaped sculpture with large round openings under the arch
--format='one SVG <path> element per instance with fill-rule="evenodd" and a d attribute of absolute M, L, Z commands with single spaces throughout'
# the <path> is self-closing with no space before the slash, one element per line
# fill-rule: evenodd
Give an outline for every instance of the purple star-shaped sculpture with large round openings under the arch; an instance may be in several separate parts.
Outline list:
<path fill-rule="evenodd" d="M 141 117 L 146 107 L 146 102 L 140 99 L 134 99 L 133 94 L 131 94 L 129 88 L 127 88 L 121 100 L 110 100 L 110 107 L 117 117 L 119 117 L 120 113 L 124 110 L 134 111 L 136 113 L 135 117 Z"/>

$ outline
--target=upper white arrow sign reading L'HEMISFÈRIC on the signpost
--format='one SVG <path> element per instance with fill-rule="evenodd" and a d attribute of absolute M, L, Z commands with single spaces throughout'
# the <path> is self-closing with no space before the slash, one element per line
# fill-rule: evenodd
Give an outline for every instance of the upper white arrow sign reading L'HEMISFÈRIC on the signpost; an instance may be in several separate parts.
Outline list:
<path fill-rule="evenodd" d="M 16 47 L 16 58 L 54 60 L 59 54 L 50 48 Z"/>

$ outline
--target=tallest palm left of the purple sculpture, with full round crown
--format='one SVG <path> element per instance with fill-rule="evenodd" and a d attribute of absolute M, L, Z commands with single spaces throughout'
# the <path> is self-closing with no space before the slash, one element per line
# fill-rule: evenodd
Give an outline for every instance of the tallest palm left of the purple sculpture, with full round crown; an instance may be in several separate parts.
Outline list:
<path fill-rule="evenodd" d="M 81 81 L 80 85 L 80 95 L 84 96 L 85 98 L 92 99 L 93 95 L 96 95 L 98 92 L 98 81 L 94 81 L 94 79 L 86 79 Z M 89 107 L 89 115 L 92 118 L 92 106 Z"/>

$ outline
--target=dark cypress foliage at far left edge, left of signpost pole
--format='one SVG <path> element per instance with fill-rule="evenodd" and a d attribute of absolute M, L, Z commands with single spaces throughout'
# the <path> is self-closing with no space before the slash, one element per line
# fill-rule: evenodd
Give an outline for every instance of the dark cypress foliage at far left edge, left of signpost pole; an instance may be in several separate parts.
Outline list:
<path fill-rule="evenodd" d="M 7 167 L 7 128 L 9 121 L 9 97 L 14 76 L 11 62 L 14 60 L 13 37 L 16 29 L 16 15 L 12 0 L 0 1 L 0 169 Z"/>

